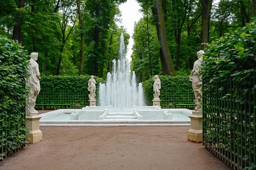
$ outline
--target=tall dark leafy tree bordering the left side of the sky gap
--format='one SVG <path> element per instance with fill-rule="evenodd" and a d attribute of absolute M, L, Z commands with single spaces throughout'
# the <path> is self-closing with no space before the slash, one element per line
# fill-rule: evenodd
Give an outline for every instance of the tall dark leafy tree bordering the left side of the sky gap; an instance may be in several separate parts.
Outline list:
<path fill-rule="evenodd" d="M 88 55 L 87 62 L 95 76 L 102 77 L 104 68 L 107 66 L 108 59 L 105 57 L 108 43 L 108 29 L 114 25 L 116 15 L 120 13 L 119 4 L 126 0 L 87 0 L 88 13 L 90 14 L 90 28 L 87 30 L 88 40 L 93 40 L 93 51 Z"/>

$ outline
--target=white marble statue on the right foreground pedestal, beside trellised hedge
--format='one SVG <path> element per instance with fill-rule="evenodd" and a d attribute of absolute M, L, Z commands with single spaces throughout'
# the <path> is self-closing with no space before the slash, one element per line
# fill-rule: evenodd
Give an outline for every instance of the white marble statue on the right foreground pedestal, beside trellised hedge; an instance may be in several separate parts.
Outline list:
<path fill-rule="evenodd" d="M 192 82 L 192 88 L 195 94 L 195 111 L 202 111 L 202 77 L 199 74 L 204 51 L 197 52 L 198 60 L 195 61 L 193 70 L 190 73 L 189 80 Z"/>

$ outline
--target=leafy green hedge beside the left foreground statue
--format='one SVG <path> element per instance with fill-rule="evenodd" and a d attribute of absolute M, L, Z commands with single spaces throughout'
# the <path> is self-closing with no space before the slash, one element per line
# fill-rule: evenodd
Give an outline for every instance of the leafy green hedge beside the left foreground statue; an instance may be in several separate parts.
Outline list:
<path fill-rule="evenodd" d="M 0 159 L 24 146 L 28 55 L 20 44 L 0 36 Z"/>

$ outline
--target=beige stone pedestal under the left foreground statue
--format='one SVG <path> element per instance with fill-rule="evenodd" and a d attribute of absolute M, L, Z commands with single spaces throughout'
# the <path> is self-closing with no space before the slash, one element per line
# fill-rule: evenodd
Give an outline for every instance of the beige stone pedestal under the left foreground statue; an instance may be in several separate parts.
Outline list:
<path fill-rule="evenodd" d="M 41 115 L 32 113 L 31 116 L 26 115 L 26 128 L 29 128 L 30 133 L 26 133 L 26 141 L 31 144 L 37 143 L 43 139 L 42 131 L 39 130 L 39 119 Z"/>

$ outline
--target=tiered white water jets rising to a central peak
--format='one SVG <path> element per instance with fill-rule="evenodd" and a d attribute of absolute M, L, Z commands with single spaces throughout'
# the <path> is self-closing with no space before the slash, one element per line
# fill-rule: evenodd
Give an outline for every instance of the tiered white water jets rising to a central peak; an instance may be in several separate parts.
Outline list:
<path fill-rule="evenodd" d="M 129 92 L 129 93 L 127 93 Z M 134 106 L 143 105 L 143 88 L 139 83 L 137 87 L 136 76 L 133 71 L 130 77 L 130 65 L 128 59 L 125 62 L 124 36 L 121 34 L 119 59 L 113 59 L 112 72 L 108 72 L 107 83 L 99 84 L 99 105 L 112 106 L 119 110 L 127 110 Z"/>

